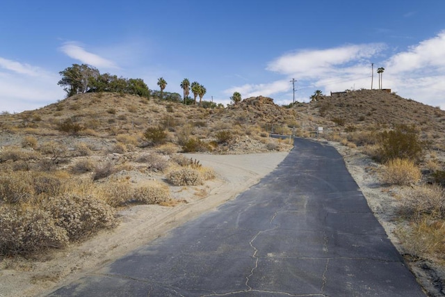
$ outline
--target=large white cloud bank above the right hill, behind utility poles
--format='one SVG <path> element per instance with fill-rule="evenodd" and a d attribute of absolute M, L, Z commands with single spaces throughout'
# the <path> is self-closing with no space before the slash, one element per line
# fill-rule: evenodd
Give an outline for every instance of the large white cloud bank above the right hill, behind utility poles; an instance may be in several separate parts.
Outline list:
<path fill-rule="evenodd" d="M 374 65 L 373 88 L 378 88 L 378 67 L 385 67 L 382 87 L 445 109 L 445 31 L 419 42 L 405 51 L 382 60 L 386 45 L 346 45 L 332 49 L 305 49 L 283 54 L 268 63 L 266 70 L 283 75 L 273 83 L 250 83 L 225 90 L 243 98 L 264 95 L 275 103 L 292 102 L 292 83 L 298 79 L 296 99 L 307 101 L 314 90 L 330 91 L 371 88 L 371 61 Z"/>

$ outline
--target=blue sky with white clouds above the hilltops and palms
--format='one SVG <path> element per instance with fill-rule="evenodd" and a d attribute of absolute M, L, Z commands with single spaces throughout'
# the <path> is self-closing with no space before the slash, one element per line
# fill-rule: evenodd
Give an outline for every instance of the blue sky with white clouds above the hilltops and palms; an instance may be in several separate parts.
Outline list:
<path fill-rule="evenodd" d="M 0 111 L 65 97 L 58 72 L 87 63 L 182 95 L 182 79 L 227 104 L 264 95 L 383 88 L 445 109 L 443 0 L 0 1 Z"/>

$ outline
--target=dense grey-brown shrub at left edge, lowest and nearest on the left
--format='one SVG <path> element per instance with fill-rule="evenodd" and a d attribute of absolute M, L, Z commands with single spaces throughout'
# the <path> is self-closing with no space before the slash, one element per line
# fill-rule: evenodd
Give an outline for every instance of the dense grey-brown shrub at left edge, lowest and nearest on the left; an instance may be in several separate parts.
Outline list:
<path fill-rule="evenodd" d="M 63 248 L 67 232 L 41 209 L 0 207 L 0 255 L 28 255 L 47 248 Z"/>

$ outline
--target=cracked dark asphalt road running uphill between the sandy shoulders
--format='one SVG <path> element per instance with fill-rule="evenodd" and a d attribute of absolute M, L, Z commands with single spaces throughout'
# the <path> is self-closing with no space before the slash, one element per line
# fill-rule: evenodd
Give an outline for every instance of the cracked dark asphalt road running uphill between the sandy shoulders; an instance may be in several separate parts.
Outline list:
<path fill-rule="evenodd" d="M 426 296 L 339 153 L 295 144 L 236 199 L 49 296 Z"/>

